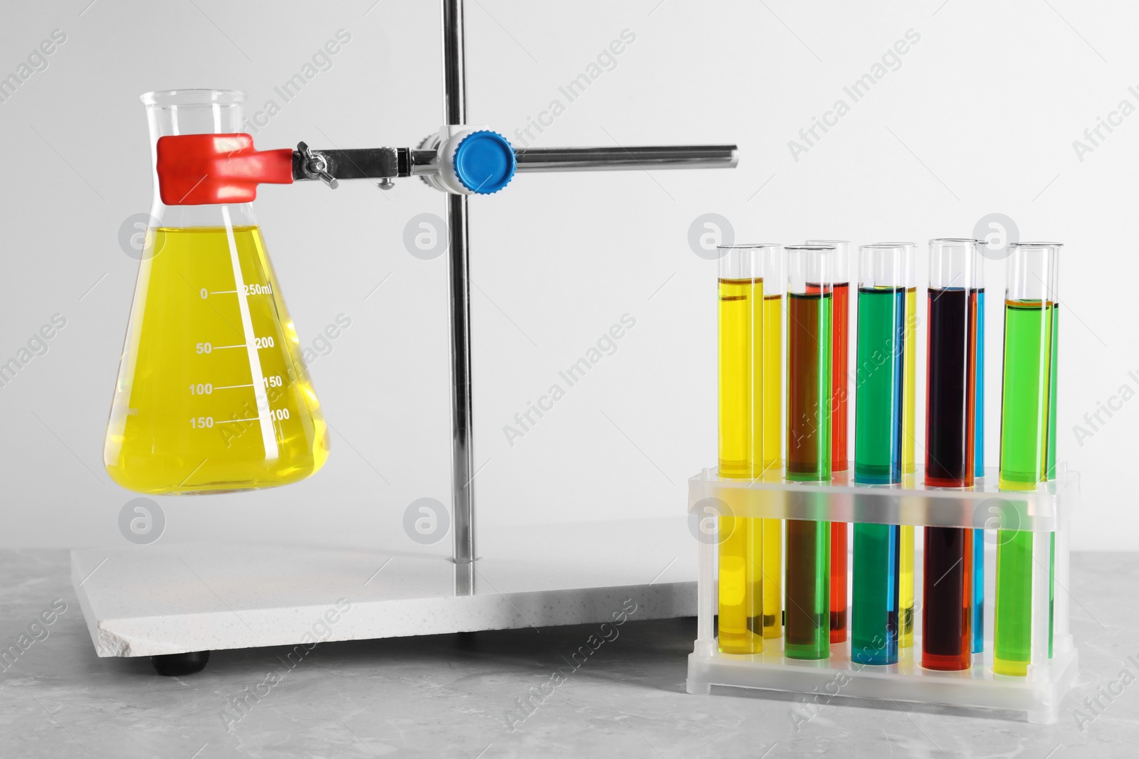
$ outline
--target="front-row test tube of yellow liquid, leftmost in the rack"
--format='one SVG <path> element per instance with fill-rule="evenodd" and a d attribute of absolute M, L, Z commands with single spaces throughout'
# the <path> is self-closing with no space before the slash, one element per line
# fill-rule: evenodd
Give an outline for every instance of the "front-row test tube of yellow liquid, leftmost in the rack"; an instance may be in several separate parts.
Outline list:
<path fill-rule="evenodd" d="M 720 477 L 753 479 L 762 469 L 762 245 L 722 246 L 719 277 Z M 762 635 L 761 519 L 720 517 L 720 651 L 757 653 Z"/>

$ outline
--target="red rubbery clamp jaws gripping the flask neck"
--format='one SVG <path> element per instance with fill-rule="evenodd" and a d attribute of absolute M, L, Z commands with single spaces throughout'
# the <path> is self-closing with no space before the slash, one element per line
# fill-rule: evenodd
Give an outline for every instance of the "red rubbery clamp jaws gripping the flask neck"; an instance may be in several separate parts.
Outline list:
<path fill-rule="evenodd" d="M 248 134 L 158 138 L 158 195 L 167 206 L 251 203 L 257 184 L 293 183 L 293 150 L 255 150 Z"/>

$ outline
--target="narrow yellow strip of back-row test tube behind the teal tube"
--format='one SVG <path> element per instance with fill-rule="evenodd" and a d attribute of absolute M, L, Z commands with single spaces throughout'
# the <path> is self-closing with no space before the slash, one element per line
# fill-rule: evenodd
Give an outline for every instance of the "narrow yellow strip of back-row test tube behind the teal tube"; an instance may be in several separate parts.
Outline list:
<path fill-rule="evenodd" d="M 902 486 L 913 487 L 917 470 L 915 448 L 917 419 L 918 365 L 918 270 L 916 242 L 879 242 L 896 245 L 906 250 L 906 339 L 902 347 Z M 899 537 L 899 647 L 913 645 L 913 526 L 898 528 Z"/>

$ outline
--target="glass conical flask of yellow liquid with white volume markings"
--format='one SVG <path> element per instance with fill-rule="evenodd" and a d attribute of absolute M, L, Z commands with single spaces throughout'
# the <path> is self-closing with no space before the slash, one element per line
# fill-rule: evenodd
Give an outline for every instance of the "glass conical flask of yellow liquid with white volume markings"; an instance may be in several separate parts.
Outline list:
<path fill-rule="evenodd" d="M 158 138 L 241 131 L 245 93 L 142 96 Z M 139 493 L 287 485 L 328 457 L 328 430 L 252 204 L 165 205 L 154 172 L 104 463 Z"/>

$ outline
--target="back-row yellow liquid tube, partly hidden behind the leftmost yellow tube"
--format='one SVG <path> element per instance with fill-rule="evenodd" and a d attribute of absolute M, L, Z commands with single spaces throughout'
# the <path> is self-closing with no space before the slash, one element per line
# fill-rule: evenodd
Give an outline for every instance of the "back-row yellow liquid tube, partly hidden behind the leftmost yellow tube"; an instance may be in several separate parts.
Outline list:
<path fill-rule="evenodd" d="M 770 272 L 768 272 L 770 273 Z M 769 277 L 770 279 L 770 277 Z M 782 467 L 782 294 L 763 296 L 763 471 Z M 782 636 L 782 520 L 763 520 L 763 637 Z"/>

